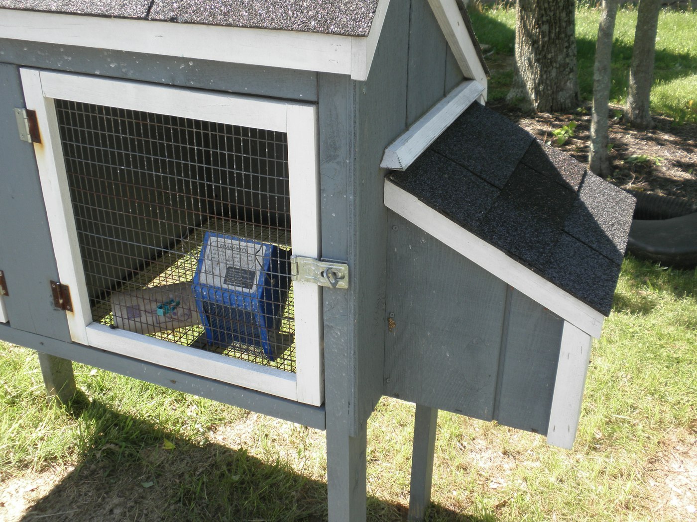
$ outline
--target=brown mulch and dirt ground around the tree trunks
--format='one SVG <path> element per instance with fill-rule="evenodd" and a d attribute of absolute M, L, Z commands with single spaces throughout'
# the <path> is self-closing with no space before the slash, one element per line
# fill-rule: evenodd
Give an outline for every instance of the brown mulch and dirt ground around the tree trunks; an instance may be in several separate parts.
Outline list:
<path fill-rule="evenodd" d="M 569 113 L 539 113 L 530 116 L 495 102 L 488 106 L 528 130 L 538 139 L 552 142 L 583 164 L 588 164 L 590 106 Z M 615 169 L 608 181 L 622 187 L 663 196 L 697 201 L 697 125 L 674 125 L 673 120 L 655 116 L 653 129 L 639 131 L 622 122 L 622 107 L 611 106 L 610 159 Z M 553 131 L 574 122 L 573 136 L 556 143 Z"/>

